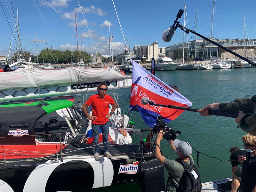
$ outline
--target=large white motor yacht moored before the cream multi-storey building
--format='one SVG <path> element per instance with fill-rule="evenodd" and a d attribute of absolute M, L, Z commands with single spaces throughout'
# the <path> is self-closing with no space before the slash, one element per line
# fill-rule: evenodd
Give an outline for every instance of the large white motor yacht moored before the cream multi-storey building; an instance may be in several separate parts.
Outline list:
<path fill-rule="evenodd" d="M 178 67 L 178 63 L 174 63 L 170 57 L 166 57 L 165 54 L 159 54 L 157 63 L 155 65 L 156 70 L 174 71 Z"/>

